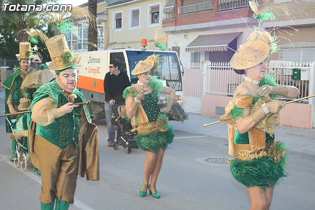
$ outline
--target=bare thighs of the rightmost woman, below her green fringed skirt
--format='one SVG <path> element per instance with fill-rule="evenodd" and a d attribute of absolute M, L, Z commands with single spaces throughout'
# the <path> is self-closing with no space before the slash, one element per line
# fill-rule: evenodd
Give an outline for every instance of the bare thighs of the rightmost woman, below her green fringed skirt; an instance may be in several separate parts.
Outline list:
<path fill-rule="evenodd" d="M 246 187 L 251 200 L 250 210 L 269 210 L 272 201 L 273 188 L 267 188 L 265 192 L 258 186 Z"/>

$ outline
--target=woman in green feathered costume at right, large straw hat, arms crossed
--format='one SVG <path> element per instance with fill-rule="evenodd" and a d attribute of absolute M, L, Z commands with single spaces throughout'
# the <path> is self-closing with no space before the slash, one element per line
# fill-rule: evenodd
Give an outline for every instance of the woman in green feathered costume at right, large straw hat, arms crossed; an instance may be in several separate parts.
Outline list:
<path fill-rule="evenodd" d="M 246 186 L 250 210 L 269 210 L 273 188 L 286 176 L 286 147 L 274 136 L 284 103 L 275 96 L 295 98 L 300 94 L 297 88 L 277 85 L 265 75 L 273 40 L 266 31 L 254 31 L 236 51 L 230 66 L 245 78 L 221 117 L 221 122 L 228 123 L 229 155 L 235 156 L 230 160 L 231 173 Z"/>

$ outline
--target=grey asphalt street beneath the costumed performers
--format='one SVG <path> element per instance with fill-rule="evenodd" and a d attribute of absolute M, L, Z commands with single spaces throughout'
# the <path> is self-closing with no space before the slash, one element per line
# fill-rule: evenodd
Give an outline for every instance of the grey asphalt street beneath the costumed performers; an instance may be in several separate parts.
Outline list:
<path fill-rule="evenodd" d="M 3 114 L 0 98 L 0 114 Z M 172 122 L 176 136 L 166 151 L 157 189 L 160 199 L 149 194 L 141 198 L 143 181 L 142 150 L 126 154 L 123 147 L 107 147 L 106 124 L 96 121 L 99 129 L 100 180 L 78 177 L 75 203 L 71 210 L 246 210 L 249 199 L 245 187 L 230 175 L 225 125 L 203 128 L 217 119 L 190 115 L 190 122 Z M 207 120 L 207 121 L 205 121 Z M 199 129 L 199 125 L 200 129 Z M 202 130 L 203 129 L 203 130 Z M 208 129 L 208 130 L 207 130 Z M 39 209 L 40 177 L 32 164 L 22 172 L 8 161 L 9 134 L 0 119 L 0 210 Z M 311 130 L 312 131 L 312 130 Z M 313 135 L 314 136 L 314 135 Z M 303 139 L 296 139 L 303 142 Z M 289 152 L 289 176 L 276 186 L 272 210 L 311 210 L 315 206 L 315 155 Z M 225 159 L 224 159 L 225 158 Z M 209 163 L 210 160 L 215 161 Z"/>

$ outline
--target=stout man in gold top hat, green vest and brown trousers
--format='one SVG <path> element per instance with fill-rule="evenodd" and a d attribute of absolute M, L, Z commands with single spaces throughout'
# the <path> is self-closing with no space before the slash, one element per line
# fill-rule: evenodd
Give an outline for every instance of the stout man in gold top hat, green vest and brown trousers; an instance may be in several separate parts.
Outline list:
<path fill-rule="evenodd" d="M 30 155 L 41 172 L 41 210 L 53 210 L 55 200 L 56 210 L 67 210 L 74 202 L 78 174 L 99 180 L 97 128 L 91 123 L 87 105 L 73 105 L 85 101 L 76 89 L 77 55 L 69 51 L 63 34 L 48 39 L 46 46 L 52 59 L 46 64 L 56 75 L 33 94 L 32 113 L 28 113 Z M 91 130 L 96 134 L 91 135 Z M 87 136 L 93 136 L 93 144 L 86 143 Z M 83 155 L 83 165 L 92 169 L 93 175 L 79 172 L 80 152 L 88 147 L 91 150 Z"/>

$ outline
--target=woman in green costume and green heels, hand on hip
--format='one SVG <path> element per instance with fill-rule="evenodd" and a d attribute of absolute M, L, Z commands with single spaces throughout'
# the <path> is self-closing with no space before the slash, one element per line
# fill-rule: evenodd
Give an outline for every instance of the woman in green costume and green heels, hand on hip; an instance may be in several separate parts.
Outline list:
<path fill-rule="evenodd" d="M 162 85 L 156 76 L 151 76 L 158 68 L 158 56 L 149 56 L 137 63 L 131 74 L 138 82 L 124 90 L 126 115 L 131 124 L 137 127 L 136 135 L 139 148 L 145 151 L 144 180 L 140 196 L 144 197 L 149 189 L 150 195 L 159 198 L 156 189 L 158 174 L 162 166 L 165 149 L 172 143 L 175 133 L 164 113 L 170 111 L 174 102 L 175 90 Z M 158 94 L 168 94 L 168 103 L 160 111 Z M 151 177 L 151 181 L 149 182 Z"/>

